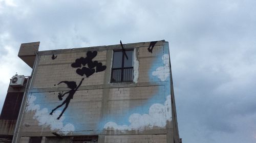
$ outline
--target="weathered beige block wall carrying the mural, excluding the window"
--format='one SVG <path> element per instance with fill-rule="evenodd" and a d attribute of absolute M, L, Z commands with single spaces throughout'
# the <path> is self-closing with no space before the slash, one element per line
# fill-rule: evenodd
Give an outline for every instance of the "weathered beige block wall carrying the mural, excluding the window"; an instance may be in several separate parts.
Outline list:
<path fill-rule="evenodd" d="M 172 128 L 168 44 L 158 41 L 152 52 L 149 45 L 124 45 L 134 48 L 134 81 L 129 83 L 110 83 L 113 49 L 120 45 L 39 52 L 22 136 L 58 132 L 103 134 L 105 142 L 166 142 Z M 59 93 L 67 94 L 59 100 Z"/>

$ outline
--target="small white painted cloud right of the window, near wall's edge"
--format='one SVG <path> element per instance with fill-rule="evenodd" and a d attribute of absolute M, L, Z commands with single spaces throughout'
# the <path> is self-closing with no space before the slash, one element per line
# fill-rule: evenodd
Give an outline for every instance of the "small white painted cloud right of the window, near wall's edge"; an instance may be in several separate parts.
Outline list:
<path fill-rule="evenodd" d="M 167 77 L 170 75 L 170 68 L 169 68 L 169 55 L 164 54 L 162 56 L 162 60 L 164 66 L 158 67 L 156 71 L 152 72 L 153 76 L 157 76 L 161 81 L 165 81 Z"/>

